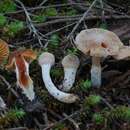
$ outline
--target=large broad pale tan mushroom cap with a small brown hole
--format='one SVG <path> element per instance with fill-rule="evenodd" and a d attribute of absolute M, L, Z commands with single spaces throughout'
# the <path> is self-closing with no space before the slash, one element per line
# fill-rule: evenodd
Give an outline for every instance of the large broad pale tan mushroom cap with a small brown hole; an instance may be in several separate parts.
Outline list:
<path fill-rule="evenodd" d="M 81 31 L 76 36 L 75 44 L 84 54 L 95 57 L 116 55 L 123 46 L 115 33 L 100 28 Z"/>

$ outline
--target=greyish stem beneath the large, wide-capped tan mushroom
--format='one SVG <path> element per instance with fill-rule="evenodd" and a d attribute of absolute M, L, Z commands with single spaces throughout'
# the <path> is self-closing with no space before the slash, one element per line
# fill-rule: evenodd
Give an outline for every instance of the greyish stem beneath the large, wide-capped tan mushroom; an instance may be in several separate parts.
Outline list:
<path fill-rule="evenodd" d="M 92 57 L 91 82 L 93 87 L 101 86 L 101 64 L 100 57 Z"/>

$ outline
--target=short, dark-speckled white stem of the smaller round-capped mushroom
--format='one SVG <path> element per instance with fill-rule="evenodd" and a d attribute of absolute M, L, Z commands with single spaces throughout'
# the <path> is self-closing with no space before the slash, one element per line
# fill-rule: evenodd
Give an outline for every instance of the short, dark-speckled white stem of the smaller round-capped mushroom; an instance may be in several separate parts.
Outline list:
<path fill-rule="evenodd" d="M 64 68 L 64 80 L 62 85 L 59 88 L 62 91 L 68 92 L 72 88 L 75 82 L 77 69 L 76 68 Z"/>

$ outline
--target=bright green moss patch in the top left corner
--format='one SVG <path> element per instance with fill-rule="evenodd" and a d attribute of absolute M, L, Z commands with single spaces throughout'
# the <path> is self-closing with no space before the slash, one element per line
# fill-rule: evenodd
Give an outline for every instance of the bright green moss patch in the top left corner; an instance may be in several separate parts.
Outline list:
<path fill-rule="evenodd" d="M 7 13 L 16 11 L 16 5 L 13 0 L 1 0 L 0 13 Z"/>

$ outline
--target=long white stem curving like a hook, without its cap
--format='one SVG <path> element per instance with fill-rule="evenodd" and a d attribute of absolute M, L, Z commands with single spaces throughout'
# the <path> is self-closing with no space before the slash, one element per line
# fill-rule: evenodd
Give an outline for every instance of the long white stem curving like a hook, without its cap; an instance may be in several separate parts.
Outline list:
<path fill-rule="evenodd" d="M 57 100 L 64 103 L 73 103 L 78 99 L 74 94 L 64 93 L 56 88 L 50 77 L 50 64 L 42 65 L 42 78 L 49 93 Z"/>

